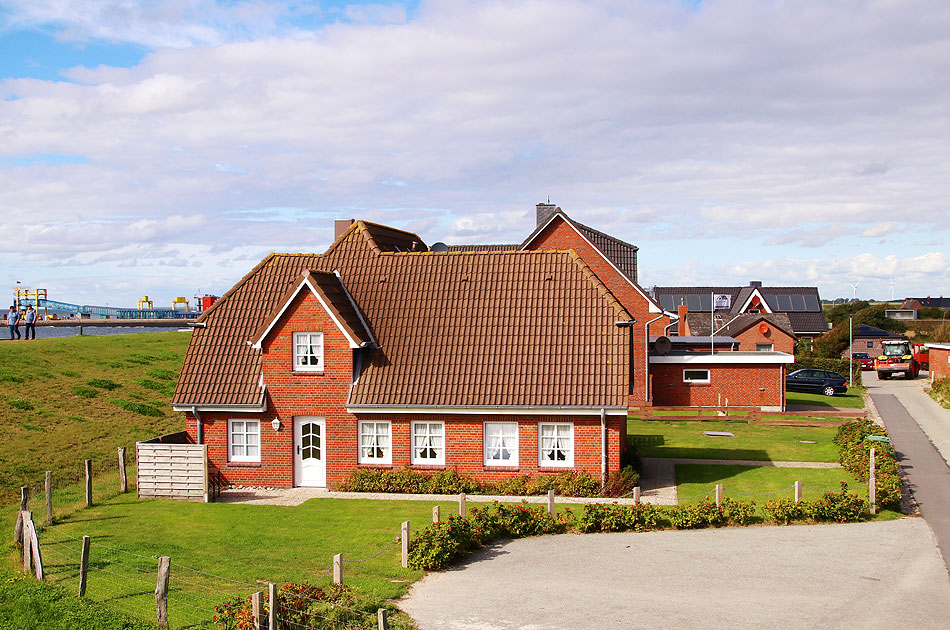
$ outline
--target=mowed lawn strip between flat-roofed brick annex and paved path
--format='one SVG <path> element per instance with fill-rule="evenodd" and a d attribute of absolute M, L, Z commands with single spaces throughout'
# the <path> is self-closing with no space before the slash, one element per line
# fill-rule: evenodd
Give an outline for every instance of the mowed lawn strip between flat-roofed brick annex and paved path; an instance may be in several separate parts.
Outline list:
<path fill-rule="evenodd" d="M 710 437 L 704 431 L 726 431 L 735 437 Z M 837 462 L 838 448 L 832 442 L 836 431 L 835 427 L 752 425 L 744 420 L 627 420 L 627 439 L 643 457 Z"/>

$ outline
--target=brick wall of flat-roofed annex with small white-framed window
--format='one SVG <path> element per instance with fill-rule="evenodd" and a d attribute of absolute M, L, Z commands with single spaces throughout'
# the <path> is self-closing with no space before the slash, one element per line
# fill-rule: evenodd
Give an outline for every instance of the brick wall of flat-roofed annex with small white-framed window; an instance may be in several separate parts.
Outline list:
<path fill-rule="evenodd" d="M 780 407 L 785 389 L 782 364 L 659 364 L 650 367 L 655 380 L 653 404 L 671 407 Z M 683 370 L 709 370 L 709 383 L 684 383 Z"/>

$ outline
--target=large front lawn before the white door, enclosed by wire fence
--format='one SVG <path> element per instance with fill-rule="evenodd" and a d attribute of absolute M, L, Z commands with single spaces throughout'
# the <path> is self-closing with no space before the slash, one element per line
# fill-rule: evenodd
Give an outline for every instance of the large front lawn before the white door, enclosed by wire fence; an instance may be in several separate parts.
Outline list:
<path fill-rule="evenodd" d="M 209 619 L 216 603 L 266 589 L 267 582 L 314 582 L 337 553 L 344 557 L 344 583 L 375 610 L 405 593 L 423 572 L 400 566 L 398 542 L 365 562 L 348 561 L 383 550 L 404 520 L 421 529 L 434 505 L 346 499 L 298 507 L 203 504 L 139 501 L 129 493 L 73 513 L 41 530 L 40 540 L 50 581 L 74 591 L 79 539 L 90 536 L 90 562 L 102 571 L 90 573 L 89 597 L 140 618 L 154 614 L 155 559 L 170 556 L 172 588 L 183 591 L 169 604 L 176 627 Z M 457 501 L 439 505 L 443 518 L 458 509 Z M 12 531 L 13 515 L 5 516 L 4 531 Z M 15 554 L 7 555 L 12 566 Z"/>

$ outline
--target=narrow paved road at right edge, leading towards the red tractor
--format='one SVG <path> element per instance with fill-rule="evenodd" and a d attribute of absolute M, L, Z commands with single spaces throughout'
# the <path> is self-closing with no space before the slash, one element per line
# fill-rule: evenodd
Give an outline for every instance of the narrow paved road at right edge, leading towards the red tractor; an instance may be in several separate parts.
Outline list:
<path fill-rule="evenodd" d="M 907 475 L 907 485 L 920 506 L 920 513 L 933 529 L 944 563 L 950 568 L 950 468 L 947 450 L 941 455 L 924 427 L 942 444 L 950 432 L 950 411 L 924 393 L 921 380 L 878 381 L 865 384 L 894 444 L 897 459 Z M 928 405 L 928 401 L 932 405 Z M 913 412 L 911 412 L 913 410 Z"/>

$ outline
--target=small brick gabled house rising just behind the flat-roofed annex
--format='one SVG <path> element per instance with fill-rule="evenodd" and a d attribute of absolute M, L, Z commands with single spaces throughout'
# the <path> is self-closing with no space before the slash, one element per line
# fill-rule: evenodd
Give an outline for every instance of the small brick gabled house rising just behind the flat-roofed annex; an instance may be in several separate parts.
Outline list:
<path fill-rule="evenodd" d="M 681 307 L 685 308 L 685 307 Z M 683 316 L 685 315 L 685 316 Z M 786 352 L 795 354 L 795 332 L 785 313 L 685 313 L 688 335 L 724 335 L 739 342 L 741 352 Z M 682 328 L 681 328 L 682 330 Z"/>

